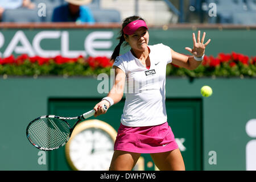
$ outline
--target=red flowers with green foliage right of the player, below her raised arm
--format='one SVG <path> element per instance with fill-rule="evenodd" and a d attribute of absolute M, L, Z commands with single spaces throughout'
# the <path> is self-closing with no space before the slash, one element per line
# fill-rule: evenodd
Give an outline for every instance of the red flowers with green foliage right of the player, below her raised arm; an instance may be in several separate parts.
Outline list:
<path fill-rule="evenodd" d="M 219 53 L 217 57 L 204 57 L 201 65 L 193 71 L 167 65 L 167 75 L 189 77 L 256 77 L 256 56 L 249 57 L 241 53 Z"/>

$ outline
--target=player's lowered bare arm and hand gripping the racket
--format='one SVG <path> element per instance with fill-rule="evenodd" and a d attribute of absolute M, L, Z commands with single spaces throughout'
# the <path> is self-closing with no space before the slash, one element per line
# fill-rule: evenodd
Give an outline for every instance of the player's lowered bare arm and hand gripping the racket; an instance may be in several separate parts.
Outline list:
<path fill-rule="evenodd" d="M 113 68 L 115 69 L 114 84 L 107 97 L 112 98 L 112 100 L 114 101 L 114 104 L 117 104 L 119 101 L 121 101 L 123 97 L 123 89 L 125 88 L 126 75 L 125 75 L 125 72 L 122 71 L 122 69 L 116 66 L 113 66 Z M 94 106 L 93 109 L 96 111 L 96 113 L 94 114 L 95 117 L 97 117 L 100 114 L 106 113 L 107 110 L 104 111 L 101 108 L 101 105 L 104 105 L 104 104 L 108 108 L 110 107 L 110 103 L 106 100 L 102 100 L 101 102 L 98 102 L 98 104 Z"/>

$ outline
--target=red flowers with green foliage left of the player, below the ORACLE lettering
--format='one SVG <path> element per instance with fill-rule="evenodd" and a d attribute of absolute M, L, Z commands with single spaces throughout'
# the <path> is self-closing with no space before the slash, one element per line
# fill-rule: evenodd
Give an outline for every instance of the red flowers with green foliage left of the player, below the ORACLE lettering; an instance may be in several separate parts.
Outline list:
<path fill-rule="evenodd" d="M 18 57 L 9 56 L 0 60 L 0 75 L 4 76 L 92 76 L 110 72 L 112 63 L 107 57 L 79 56 L 68 58 L 56 56 Z"/>

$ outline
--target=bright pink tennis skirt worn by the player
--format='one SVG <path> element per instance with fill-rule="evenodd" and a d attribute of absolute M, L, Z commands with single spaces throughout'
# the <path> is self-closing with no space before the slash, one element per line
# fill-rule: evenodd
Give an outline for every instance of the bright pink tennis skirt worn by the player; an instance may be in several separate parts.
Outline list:
<path fill-rule="evenodd" d="M 151 154 L 178 148 L 168 122 L 156 126 L 130 127 L 120 125 L 114 150 Z"/>

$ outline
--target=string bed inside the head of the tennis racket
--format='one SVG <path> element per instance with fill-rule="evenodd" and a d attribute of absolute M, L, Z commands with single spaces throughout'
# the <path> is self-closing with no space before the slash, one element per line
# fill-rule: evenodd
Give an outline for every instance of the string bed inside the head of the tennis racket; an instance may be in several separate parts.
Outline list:
<path fill-rule="evenodd" d="M 43 148 L 56 148 L 65 144 L 69 138 L 67 123 L 56 118 L 41 118 L 31 123 L 28 134 L 32 143 Z"/>

